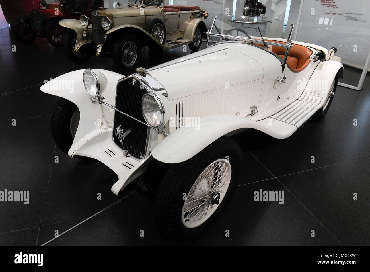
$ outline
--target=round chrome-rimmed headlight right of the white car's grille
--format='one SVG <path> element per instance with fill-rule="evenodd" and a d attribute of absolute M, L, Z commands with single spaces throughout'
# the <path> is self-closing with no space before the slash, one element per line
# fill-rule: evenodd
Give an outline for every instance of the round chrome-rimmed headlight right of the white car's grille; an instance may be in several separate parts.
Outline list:
<path fill-rule="evenodd" d="M 144 94 L 141 99 L 141 111 L 145 121 L 152 128 L 159 128 L 164 123 L 164 108 L 161 101 L 154 94 Z"/>

